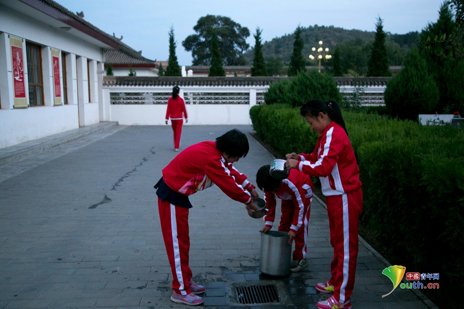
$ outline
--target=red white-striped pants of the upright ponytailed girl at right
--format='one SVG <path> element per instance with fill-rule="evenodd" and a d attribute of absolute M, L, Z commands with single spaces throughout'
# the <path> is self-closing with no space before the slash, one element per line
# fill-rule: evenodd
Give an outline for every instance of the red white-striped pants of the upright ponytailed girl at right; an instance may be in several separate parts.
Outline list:
<path fill-rule="evenodd" d="M 335 288 L 335 299 L 345 303 L 355 285 L 356 261 L 358 259 L 359 215 L 362 211 L 362 190 L 327 196 L 329 214 L 330 244 L 334 247 L 334 259 L 330 264 Z"/>

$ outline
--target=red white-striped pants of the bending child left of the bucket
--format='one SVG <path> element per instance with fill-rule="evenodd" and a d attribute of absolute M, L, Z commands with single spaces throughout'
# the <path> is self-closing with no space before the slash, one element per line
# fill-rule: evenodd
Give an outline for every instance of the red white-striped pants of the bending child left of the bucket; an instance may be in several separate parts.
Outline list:
<path fill-rule="evenodd" d="M 158 198 L 161 231 L 172 271 L 172 289 L 182 295 L 191 292 L 189 280 L 189 208 L 179 207 Z"/>

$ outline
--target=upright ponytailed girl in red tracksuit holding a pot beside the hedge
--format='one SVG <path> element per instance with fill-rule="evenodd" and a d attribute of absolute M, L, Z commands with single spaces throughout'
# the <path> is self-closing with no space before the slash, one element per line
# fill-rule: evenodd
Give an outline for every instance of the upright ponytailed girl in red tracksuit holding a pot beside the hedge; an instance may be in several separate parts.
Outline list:
<path fill-rule="evenodd" d="M 330 243 L 334 259 L 332 277 L 316 289 L 334 295 L 316 304 L 320 309 L 351 309 L 358 258 L 358 226 L 362 211 L 359 168 L 348 139 L 345 122 L 336 102 L 311 100 L 300 113 L 319 137 L 312 154 L 287 154 L 286 166 L 318 176 L 326 196 Z"/>

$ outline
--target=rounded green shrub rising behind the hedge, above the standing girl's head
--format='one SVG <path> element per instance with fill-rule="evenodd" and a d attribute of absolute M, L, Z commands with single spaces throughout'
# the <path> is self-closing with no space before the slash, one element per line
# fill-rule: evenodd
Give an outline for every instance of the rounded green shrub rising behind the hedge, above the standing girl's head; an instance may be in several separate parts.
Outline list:
<path fill-rule="evenodd" d="M 342 96 L 334 78 L 316 70 L 301 72 L 291 81 L 283 80 L 272 84 L 264 93 L 266 104 L 300 106 L 312 99 L 341 103 Z"/>

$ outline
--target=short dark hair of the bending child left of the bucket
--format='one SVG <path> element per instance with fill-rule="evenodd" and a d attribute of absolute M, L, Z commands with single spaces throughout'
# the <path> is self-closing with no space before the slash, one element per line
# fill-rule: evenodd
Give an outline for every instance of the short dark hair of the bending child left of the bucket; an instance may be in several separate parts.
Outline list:
<path fill-rule="evenodd" d="M 246 157 L 250 145 L 244 133 L 233 129 L 216 138 L 216 148 L 231 158 L 241 158 Z"/>

